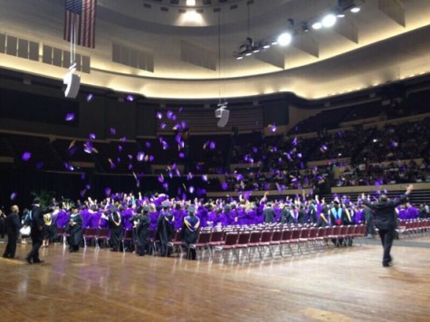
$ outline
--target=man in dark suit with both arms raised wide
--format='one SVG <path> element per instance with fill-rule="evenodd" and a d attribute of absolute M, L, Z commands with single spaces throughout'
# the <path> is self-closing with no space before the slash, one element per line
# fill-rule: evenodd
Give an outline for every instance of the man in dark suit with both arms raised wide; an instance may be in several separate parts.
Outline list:
<path fill-rule="evenodd" d="M 379 237 L 381 238 L 382 247 L 384 248 L 384 255 L 382 257 L 383 267 L 391 266 L 393 260 L 390 251 L 397 226 L 396 207 L 406 202 L 407 196 L 413 189 L 413 185 L 408 185 L 406 193 L 397 200 L 389 200 L 386 194 L 381 194 L 376 203 L 370 203 L 370 201 L 365 198 L 364 194 L 361 196 L 363 204 L 367 205 L 375 212 L 375 224 L 378 229 Z"/>

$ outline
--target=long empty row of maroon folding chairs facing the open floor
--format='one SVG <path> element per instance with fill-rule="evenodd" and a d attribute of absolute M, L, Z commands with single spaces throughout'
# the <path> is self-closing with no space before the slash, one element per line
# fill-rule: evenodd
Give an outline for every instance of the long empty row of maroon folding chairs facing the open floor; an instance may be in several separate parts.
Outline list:
<path fill-rule="evenodd" d="M 236 260 L 239 261 L 241 251 L 246 251 L 248 260 L 251 261 L 251 250 L 258 251 L 260 259 L 263 260 L 265 252 L 269 251 L 274 257 L 276 250 L 283 256 L 283 247 L 286 245 L 291 255 L 294 255 L 292 245 L 296 245 L 296 253 L 302 254 L 303 248 L 311 252 L 326 249 L 329 242 L 334 246 L 341 246 L 344 241 L 353 238 L 363 237 L 366 232 L 365 225 L 334 226 L 326 228 L 304 227 L 284 230 L 258 230 L 258 231 L 202 231 L 198 235 L 197 242 L 190 245 L 190 249 L 195 249 L 197 259 L 203 259 L 205 251 L 209 251 L 209 258 L 213 259 L 215 251 L 221 253 L 220 260 L 225 260 L 225 251 L 233 252 Z M 181 241 L 172 242 L 172 247 L 179 246 Z M 348 245 L 348 244 L 346 244 Z M 312 250 L 311 250 L 312 248 Z"/>

